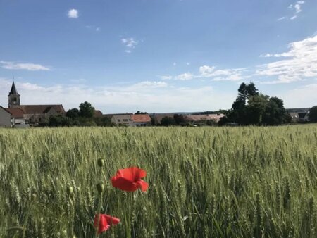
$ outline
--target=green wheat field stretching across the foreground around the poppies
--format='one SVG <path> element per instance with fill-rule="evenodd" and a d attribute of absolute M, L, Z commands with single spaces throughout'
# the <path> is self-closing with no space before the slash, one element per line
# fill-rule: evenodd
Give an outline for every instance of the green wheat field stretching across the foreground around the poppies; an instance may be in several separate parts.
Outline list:
<path fill-rule="evenodd" d="M 317 237 L 316 142 L 316 124 L 2 129 L 0 237 L 94 237 L 99 206 L 121 219 L 100 237 Z M 146 193 L 111 186 L 131 165 Z"/>

